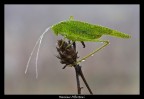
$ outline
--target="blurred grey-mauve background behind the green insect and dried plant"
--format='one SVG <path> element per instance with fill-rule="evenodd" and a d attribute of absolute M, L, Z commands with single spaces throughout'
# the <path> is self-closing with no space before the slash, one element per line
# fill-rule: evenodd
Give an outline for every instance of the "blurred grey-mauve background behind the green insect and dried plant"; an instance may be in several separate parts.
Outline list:
<path fill-rule="evenodd" d="M 131 39 L 103 36 L 110 45 L 82 62 L 82 70 L 94 94 L 139 94 L 139 5 L 5 5 L 5 94 L 77 94 L 74 68 L 55 57 L 61 36 L 50 30 L 43 38 L 38 79 L 34 53 L 27 74 L 26 63 L 44 30 L 73 15 L 75 19 L 117 29 Z M 83 57 L 101 43 L 77 43 Z M 89 94 L 81 81 L 82 94 Z"/>

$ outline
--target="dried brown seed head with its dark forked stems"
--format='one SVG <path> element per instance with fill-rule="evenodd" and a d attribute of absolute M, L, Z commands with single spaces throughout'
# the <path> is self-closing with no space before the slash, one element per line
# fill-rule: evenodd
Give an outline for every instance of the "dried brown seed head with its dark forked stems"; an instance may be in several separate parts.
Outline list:
<path fill-rule="evenodd" d="M 82 43 L 83 47 L 85 47 L 84 42 L 81 42 L 81 43 Z M 77 58 L 78 58 L 78 56 L 77 56 L 78 52 L 76 52 L 76 43 L 75 42 L 71 43 L 70 41 L 68 41 L 68 43 L 67 43 L 63 40 L 58 40 L 58 46 L 56 47 L 56 49 L 59 53 L 59 55 L 56 57 L 58 59 L 60 59 L 61 64 L 65 64 L 63 69 L 66 68 L 68 65 L 71 65 L 75 68 L 78 94 L 81 94 L 81 89 L 82 89 L 80 87 L 79 76 L 81 76 L 81 78 L 84 81 L 84 84 L 86 85 L 90 94 L 93 94 L 88 83 L 86 82 L 86 79 L 85 79 L 83 73 L 82 73 L 81 66 L 79 66 L 79 64 L 75 64 L 77 62 Z"/>

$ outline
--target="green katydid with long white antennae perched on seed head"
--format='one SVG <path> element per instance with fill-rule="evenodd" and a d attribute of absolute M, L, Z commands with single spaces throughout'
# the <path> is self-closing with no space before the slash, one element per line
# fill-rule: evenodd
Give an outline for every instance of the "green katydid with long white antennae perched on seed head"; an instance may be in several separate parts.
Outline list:
<path fill-rule="evenodd" d="M 98 49 L 95 49 L 93 52 L 90 54 L 86 55 L 82 59 L 78 60 L 76 64 L 85 61 L 88 57 L 94 55 L 96 52 L 99 50 L 103 49 L 105 46 L 109 44 L 109 41 L 106 40 L 101 40 L 100 38 L 103 35 L 109 35 L 109 36 L 114 36 L 114 37 L 119 37 L 119 38 L 130 38 L 131 36 L 128 34 L 125 34 L 123 32 L 117 31 L 110 29 L 108 27 L 100 26 L 100 25 L 94 25 L 90 24 L 87 22 L 82 22 L 78 20 L 74 20 L 73 16 L 70 16 L 68 20 L 61 21 L 57 24 L 52 25 L 51 27 L 48 27 L 42 35 L 39 37 L 38 41 L 36 42 L 31 55 L 29 57 L 25 73 L 27 72 L 27 69 L 29 67 L 29 62 L 31 60 L 31 56 L 35 50 L 36 45 L 39 43 L 38 46 L 38 51 L 37 51 L 37 56 L 36 56 L 36 77 L 38 76 L 37 73 L 37 60 L 38 60 L 38 54 L 39 54 L 39 48 L 41 45 L 41 41 L 43 39 L 44 34 L 49 30 L 52 29 L 53 32 L 58 36 L 59 34 L 64 36 L 64 39 L 67 38 L 68 40 L 71 40 L 72 42 L 102 42 L 104 43 L 103 46 L 101 46 Z"/>

